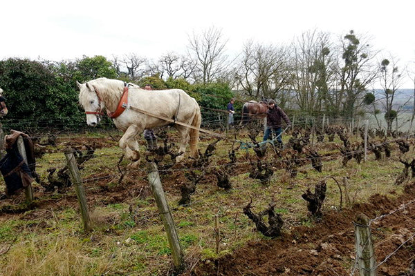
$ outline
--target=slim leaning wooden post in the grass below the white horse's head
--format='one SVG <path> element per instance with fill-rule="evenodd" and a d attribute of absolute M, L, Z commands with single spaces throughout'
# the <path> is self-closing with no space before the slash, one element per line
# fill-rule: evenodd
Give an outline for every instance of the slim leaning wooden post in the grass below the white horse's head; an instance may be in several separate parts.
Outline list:
<path fill-rule="evenodd" d="M 91 219 L 89 218 L 88 205 L 86 204 L 86 196 L 84 185 L 82 184 L 82 179 L 80 177 L 80 170 L 77 167 L 75 156 L 73 155 L 73 150 L 68 148 L 65 151 L 66 162 L 68 163 L 68 169 L 71 174 L 71 180 L 73 186 L 75 187 L 75 192 L 77 199 L 80 202 L 82 222 L 84 224 L 84 230 L 91 230 Z"/>

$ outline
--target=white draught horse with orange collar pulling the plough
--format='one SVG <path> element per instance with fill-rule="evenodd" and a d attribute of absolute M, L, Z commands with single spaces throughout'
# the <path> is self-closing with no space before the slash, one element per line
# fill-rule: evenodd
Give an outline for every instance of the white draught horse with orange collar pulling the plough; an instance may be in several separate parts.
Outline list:
<path fill-rule="evenodd" d="M 197 144 L 201 110 L 196 100 L 183 90 L 144 90 L 131 83 L 107 78 L 93 79 L 82 84 L 77 81 L 77 86 L 80 88 L 80 104 L 86 113 L 86 124 L 97 126 L 102 110 L 106 109 L 116 127 L 124 132 L 120 148 L 125 151 L 128 159 L 140 159 L 138 139 L 145 128 L 172 124 L 160 117 L 179 123 L 174 124 L 174 127 L 178 130 L 180 139 L 178 152 L 183 154 L 176 157 L 176 161 L 184 158 L 189 140 L 191 155 L 199 157 Z"/>

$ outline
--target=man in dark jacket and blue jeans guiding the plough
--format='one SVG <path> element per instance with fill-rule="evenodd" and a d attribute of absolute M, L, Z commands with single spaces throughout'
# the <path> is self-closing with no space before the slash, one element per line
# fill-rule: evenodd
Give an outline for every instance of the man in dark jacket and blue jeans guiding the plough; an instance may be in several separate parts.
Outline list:
<path fill-rule="evenodd" d="M 264 141 L 268 140 L 271 132 L 273 132 L 275 137 L 277 137 L 277 146 L 279 148 L 282 148 L 282 119 L 284 119 L 287 126 L 291 126 L 291 121 L 288 119 L 288 116 L 285 114 L 284 110 L 277 106 L 273 99 L 270 99 L 270 101 L 268 101 L 268 110 L 266 112 L 266 130 L 264 132 Z"/>

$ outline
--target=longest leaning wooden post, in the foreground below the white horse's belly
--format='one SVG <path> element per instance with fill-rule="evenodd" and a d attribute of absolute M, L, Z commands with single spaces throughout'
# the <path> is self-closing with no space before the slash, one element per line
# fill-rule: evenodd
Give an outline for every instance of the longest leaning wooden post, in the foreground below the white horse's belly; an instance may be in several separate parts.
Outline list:
<path fill-rule="evenodd" d="M 180 242 L 178 241 L 176 228 L 174 227 L 173 217 L 170 213 L 165 193 L 163 191 L 163 186 L 161 185 L 160 176 L 158 175 L 157 165 L 154 162 L 149 164 L 149 183 L 151 190 L 153 191 L 154 198 L 156 199 L 161 220 L 163 221 L 163 225 L 167 233 L 170 248 L 172 249 L 174 266 L 178 271 L 183 270 L 185 266 L 183 262 L 183 253 Z"/>

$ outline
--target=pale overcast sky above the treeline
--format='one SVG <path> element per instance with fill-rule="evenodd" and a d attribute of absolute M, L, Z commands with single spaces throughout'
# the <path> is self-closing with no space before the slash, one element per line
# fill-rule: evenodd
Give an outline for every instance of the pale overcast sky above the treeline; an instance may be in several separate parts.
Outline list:
<path fill-rule="evenodd" d="M 228 55 L 243 43 L 288 45 L 308 30 L 370 38 L 375 50 L 415 74 L 413 5 L 409 0 L 118 0 L 2 1 L 0 59 L 62 61 L 83 55 L 136 54 L 157 59 L 184 54 L 188 37 L 210 27 L 228 40 Z M 412 77 L 413 78 L 413 77 Z M 414 88 L 409 78 L 401 88 Z"/>

